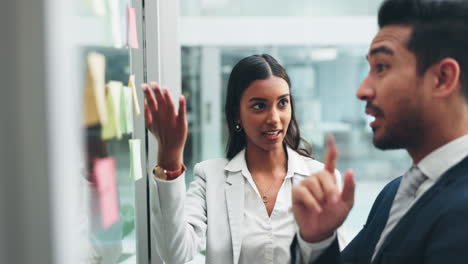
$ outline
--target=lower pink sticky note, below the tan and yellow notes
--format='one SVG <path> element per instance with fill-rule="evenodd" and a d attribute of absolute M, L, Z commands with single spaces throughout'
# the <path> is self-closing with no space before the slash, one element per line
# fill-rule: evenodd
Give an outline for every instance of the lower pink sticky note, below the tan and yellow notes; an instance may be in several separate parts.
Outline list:
<path fill-rule="evenodd" d="M 101 223 L 105 229 L 119 220 L 115 165 L 115 159 L 112 157 L 94 160 L 94 179 L 101 208 Z"/>

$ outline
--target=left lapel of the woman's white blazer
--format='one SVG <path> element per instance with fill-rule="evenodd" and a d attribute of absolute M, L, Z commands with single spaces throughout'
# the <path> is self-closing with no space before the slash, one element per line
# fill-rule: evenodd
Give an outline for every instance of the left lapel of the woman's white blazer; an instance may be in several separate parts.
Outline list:
<path fill-rule="evenodd" d="M 244 221 L 244 177 L 241 171 L 228 172 L 225 185 L 226 204 L 231 228 L 233 263 L 239 262 Z"/>

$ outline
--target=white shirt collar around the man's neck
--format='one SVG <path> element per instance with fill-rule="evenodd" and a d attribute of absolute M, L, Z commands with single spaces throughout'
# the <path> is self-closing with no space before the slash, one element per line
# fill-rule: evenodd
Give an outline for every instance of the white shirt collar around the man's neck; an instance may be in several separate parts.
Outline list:
<path fill-rule="evenodd" d="M 468 134 L 459 137 L 424 157 L 418 168 L 433 181 L 468 155 Z"/>

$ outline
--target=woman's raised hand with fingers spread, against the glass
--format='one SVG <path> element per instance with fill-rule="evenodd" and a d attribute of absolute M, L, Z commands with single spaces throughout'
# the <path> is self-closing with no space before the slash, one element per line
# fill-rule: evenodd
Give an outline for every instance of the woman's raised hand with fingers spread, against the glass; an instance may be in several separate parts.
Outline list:
<path fill-rule="evenodd" d="M 187 140 L 186 101 L 179 98 L 179 111 L 175 112 L 169 91 L 155 82 L 142 84 L 145 92 L 146 128 L 158 141 L 158 165 L 166 170 L 182 166 L 182 154 Z M 152 92 L 151 92 L 152 91 Z"/>

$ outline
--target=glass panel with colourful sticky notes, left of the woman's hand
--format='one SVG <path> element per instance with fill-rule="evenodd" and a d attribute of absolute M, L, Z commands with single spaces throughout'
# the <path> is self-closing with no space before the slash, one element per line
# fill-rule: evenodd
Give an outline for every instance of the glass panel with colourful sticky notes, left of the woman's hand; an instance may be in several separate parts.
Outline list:
<path fill-rule="evenodd" d="M 137 94 L 132 94 L 129 83 L 142 65 L 132 65 L 132 49 L 127 46 L 127 32 L 131 27 L 136 30 L 136 24 L 129 22 L 130 7 L 130 0 L 81 1 L 75 9 L 76 30 L 81 32 L 77 40 L 84 116 L 80 209 L 81 228 L 89 242 L 82 255 L 85 263 L 137 263 L 137 220 L 146 221 L 136 214 L 136 181 L 142 175 L 137 178 L 131 170 L 139 167 L 142 173 L 141 160 L 132 164 L 130 140 L 140 139 L 134 133 Z M 139 19 L 133 18 L 133 22 Z M 140 150 L 135 153 L 140 155 Z"/>

